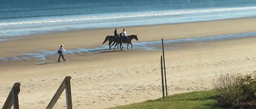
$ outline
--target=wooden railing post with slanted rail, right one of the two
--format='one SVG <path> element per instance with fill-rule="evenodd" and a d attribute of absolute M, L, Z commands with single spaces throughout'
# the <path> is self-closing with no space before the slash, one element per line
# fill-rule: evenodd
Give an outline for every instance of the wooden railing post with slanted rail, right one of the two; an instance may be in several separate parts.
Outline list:
<path fill-rule="evenodd" d="M 51 109 L 57 102 L 58 98 L 61 96 L 62 92 L 66 88 L 66 100 L 67 100 L 67 109 L 72 109 L 72 97 L 71 97 L 71 91 L 70 91 L 70 76 L 66 76 L 66 78 L 63 80 L 61 86 L 59 86 L 57 92 L 55 95 L 53 95 L 51 101 L 49 102 L 49 105 L 46 107 L 46 109 Z"/>

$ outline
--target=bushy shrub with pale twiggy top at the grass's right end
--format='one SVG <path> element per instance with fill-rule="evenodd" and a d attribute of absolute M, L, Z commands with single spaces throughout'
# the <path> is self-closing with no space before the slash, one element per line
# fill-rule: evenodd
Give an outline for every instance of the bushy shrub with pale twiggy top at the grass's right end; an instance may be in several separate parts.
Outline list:
<path fill-rule="evenodd" d="M 256 72 L 245 76 L 225 74 L 215 80 L 217 105 L 231 108 L 256 108 Z"/>

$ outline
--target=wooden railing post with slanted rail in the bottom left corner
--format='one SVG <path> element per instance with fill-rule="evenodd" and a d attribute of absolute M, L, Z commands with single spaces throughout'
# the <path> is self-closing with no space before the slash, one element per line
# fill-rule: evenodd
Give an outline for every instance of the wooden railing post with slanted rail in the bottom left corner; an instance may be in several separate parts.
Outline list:
<path fill-rule="evenodd" d="M 11 88 L 11 91 L 4 103 L 3 109 L 10 109 L 13 106 L 14 109 L 19 109 L 18 94 L 20 93 L 20 82 L 16 82 Z"/>

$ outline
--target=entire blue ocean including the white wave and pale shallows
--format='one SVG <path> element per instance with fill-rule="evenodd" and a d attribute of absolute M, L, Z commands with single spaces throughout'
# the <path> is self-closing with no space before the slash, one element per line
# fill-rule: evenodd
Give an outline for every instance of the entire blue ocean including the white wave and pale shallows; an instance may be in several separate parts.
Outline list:
<path fill-rule="evenodd" d="M 79 29 L 253 16 L 255 0 L 0 0 L 0 41 Z"/>

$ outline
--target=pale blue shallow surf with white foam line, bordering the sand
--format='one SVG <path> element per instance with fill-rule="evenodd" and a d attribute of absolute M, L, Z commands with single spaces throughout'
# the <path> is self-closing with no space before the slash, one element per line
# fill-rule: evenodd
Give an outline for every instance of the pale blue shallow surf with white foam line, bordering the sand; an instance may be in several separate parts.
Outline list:
<path fill-rule="evenodd" d="M 69 29 L 126 27 L 166 23 L 183 23 L 225 18 L 251 17 L 256 7 L 183 9 L 163 11 L 116 12 L 108 14 L 66 15 L 22 20 L 1 20 L 0 36 L 52 33 Z"/>

